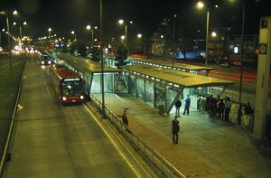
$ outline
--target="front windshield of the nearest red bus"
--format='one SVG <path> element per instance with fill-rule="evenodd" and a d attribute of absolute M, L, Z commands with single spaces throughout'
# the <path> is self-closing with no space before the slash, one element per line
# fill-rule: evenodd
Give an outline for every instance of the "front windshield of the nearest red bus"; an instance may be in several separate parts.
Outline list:
<path fill-rule="evenodd" d="M 81 80 L 69 80 L 62 82 L 62 93 L 66 97 L 75 97 L 82 95 L 83 84 Z"/>

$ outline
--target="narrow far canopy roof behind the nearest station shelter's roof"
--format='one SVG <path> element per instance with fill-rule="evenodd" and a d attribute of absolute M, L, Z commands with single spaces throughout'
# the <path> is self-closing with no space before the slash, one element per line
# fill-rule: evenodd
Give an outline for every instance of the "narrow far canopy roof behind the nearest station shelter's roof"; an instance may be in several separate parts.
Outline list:
<path fill-rule="evenodd" d="M 138 64 L 147 64 L 147 65 L 159 65 L 164 67 L 174 67 L 181 70 L 213 70 L 213 68 L 205 67 L 205 66 L 198 66 L 198 65 L 191 65 L 186 63 L 179 63 L 179 62 L 173 62 L 173 61 L 162 61 L 162 60 L 147 60 L 147 59 L 141 59 L 141 58 L 134 58 L 129 57 L 127 61 L 133 61 Z"/>

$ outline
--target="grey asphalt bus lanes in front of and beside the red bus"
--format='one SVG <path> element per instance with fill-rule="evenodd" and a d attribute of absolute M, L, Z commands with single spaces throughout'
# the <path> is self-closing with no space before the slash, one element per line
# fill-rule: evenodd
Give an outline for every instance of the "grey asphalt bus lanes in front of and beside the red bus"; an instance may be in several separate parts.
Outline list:
<path fill-rule="evenodd" d="M 89 104 L 62 106 L 48 68 L 26 62 L 3 177 L 155 177 Z"/>

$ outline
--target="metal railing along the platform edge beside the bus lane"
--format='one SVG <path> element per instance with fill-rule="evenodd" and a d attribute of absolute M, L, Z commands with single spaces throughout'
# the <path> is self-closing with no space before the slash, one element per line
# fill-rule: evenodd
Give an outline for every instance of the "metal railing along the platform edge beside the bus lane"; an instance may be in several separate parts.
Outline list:
<path fill-rule="evenodd" d="M 95 98 L 93 94 L 90 96 L 93 102 L 100 110 L 102 104 Z M 117 127 L 117 129 L 126 136 L 130 143 L 135 145 L 135 148 L 143 153 L 148 160 L 151 161 L 153 166 L 156 166 L 166 177 L 185 177 L 173 164 L 169 163 L 162 155 L 160 155 L 154 148 L 144 141 L 143 138 L 138 136 L 129 126 L 122 123 L 122 120 L 117 117 L 115 113 L 105 107 L 106 117 Z"/>

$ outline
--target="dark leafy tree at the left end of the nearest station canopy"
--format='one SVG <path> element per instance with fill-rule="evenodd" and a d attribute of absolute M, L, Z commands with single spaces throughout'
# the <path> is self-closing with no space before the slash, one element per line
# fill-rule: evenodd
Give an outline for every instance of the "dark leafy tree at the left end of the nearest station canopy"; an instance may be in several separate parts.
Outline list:
<path fill-rule="evenodd" d="M 117 61 L 115 65 L 117 66 L 118 69 L 120 68 L 120 66 L 124 66 L 128 63 L 126 61 L 126 59 L 128 58 L 128 53 L 129 53 L 128 48 L 122 42 L 115 43 L 114 61 Z"/>

